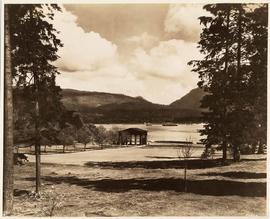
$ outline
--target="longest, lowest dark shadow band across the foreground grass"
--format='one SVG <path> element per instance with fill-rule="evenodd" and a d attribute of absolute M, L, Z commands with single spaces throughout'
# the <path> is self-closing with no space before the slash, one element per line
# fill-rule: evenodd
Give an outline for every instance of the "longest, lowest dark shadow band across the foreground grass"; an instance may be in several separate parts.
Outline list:
<path fill-rule="evenodd" d="M 26 180 L 34 180 L 28 177 Z M 55 184 L 67 183 L 102 192 L 144 191 L 176 191 L 184 192 L 184 180 L 181 178 L 138 178 L 138 179 L 99 179 L 89 180 L 75 176 L 45 176 L 44 181 Z M 227 180 L 188 180 L 188 192 L 200 195 L 246 197 L 265 197 L 266 183 L 237 182 Z"/>

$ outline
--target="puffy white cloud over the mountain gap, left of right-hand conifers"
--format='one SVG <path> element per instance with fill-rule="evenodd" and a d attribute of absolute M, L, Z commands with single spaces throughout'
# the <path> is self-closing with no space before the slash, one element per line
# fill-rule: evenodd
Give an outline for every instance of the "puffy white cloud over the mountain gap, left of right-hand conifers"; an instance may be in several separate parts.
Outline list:
<path fill-rule="evenodd" d="M 183 85 L 185 85 L 194 79 L 192 74 L 188 74 L 190 67 L 187 62 L 196 58 L 199 58 L 199 53 L 195 43 L 169 40 L 161 41 L 149 52 L 137 48 L 130 60 L 130 65 L 133 71 L 137 72 L 138 77 L 177 79 L 182 80 Z"/>

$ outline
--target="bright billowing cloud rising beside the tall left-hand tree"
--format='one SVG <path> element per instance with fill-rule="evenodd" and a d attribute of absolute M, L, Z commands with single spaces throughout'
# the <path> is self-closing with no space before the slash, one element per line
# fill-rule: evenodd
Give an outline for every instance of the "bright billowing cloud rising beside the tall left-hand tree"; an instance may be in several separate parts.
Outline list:
<path fill-rule="evenodd" d="M 117 59 L 117 46 L 102 38 L 99 33 L 85 32 L 76 23 L 77 17 L 65 8 L 56 13 L 54 26 L 60 31 L 64 44 L 58 54 L 56 65 L 66 72 L 92 71 L 110 66 Z"/>

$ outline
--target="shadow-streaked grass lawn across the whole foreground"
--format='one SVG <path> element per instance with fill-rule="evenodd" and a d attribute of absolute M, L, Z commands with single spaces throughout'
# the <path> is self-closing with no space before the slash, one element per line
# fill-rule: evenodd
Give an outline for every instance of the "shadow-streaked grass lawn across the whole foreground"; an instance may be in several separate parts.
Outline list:
<path fill-rule="evenodd" d="M 54 216 L 264 216 L 266 156 L 243 158 L 190 161 L 187 193 L 177 159 L 43 163 L 41 199 L 29 162 L 15 167 L 14 214 L 46 216 L 56 198 Z"/>

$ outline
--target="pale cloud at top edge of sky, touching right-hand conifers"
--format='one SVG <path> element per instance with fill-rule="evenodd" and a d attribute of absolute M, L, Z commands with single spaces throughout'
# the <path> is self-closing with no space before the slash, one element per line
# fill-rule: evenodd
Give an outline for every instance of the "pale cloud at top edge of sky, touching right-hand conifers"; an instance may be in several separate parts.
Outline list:
<path fill-rule="evenodd" d="M 200 4 L 170 5 L 164 27 L 167 33 L 179 33 L 186 41 L 198 41 L 201 26 L 198 17 L 208 15 Z"/>

